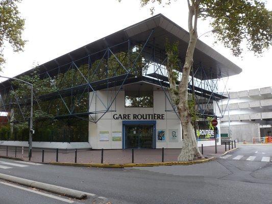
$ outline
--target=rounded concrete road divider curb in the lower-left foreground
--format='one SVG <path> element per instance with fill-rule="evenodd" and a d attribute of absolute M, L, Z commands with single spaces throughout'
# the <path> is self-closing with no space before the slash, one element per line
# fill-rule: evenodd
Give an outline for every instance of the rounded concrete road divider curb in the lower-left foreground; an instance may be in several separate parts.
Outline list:
<path fill-rule="evenodd" d="M 59 194 L 59 195 L 65 195 L 65 196 L 72 197 L 72 198 L 84 199 L 84 198 L 87 197 L 87 194 L 85 194 L 82 191 L 77 191 L 77 190 L 64 188 L 64 187 L 60 187 L 60 186 L 55 186 L 55 185 L 52 185 L 52 184 L 45 184 L 45 183 L 41 183 L 41 182 L 35 182 L 35 181 L 32 181 L 32 180 L 22 179 L 20 177 L 16 177 L 16 176 L 12 176 L 12 175 L 6 175 L 6 174 L 3 174 L 3 173 L 0 173 L 0 179 L 5 180 L 5 181 L 9 181 L 9 182 L 13 182 L 13 183 L 16 183 L 16 184 L 20 184 L 20 185 L 23 185 L 23 186 L 28 186 L 28 187 L 31 187 L 31 188 L 37 188 L 37 189 L 45 190 L 45 191 L 56 193 L 56 194 Z"/>

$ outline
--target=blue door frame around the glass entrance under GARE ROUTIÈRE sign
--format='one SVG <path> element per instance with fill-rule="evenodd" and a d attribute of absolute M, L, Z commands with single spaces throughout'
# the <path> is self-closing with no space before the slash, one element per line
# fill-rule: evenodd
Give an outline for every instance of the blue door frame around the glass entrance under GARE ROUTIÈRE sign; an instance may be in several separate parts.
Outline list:
<path fill-rule="evenodd" d="M 126 124 L 151 124 L 153 125 L 152 146 L 156 149 L 156 120 L 123 120 L 122 121 L 122 149 L 126 148 Z"/>

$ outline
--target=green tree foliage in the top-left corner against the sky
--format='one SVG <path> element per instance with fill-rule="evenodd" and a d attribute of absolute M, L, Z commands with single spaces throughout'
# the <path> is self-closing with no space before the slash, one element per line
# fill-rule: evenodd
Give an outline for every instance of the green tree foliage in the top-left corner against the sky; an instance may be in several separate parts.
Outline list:
<path fill-rule="evenodd" d="M 22 31 L 24 19 L 21 18 L 17 4 L 21 0 L 0 0 L 0 68 L 4 59 L 4 43 L 8 42 L 14 52 L 23 50 Z"/>

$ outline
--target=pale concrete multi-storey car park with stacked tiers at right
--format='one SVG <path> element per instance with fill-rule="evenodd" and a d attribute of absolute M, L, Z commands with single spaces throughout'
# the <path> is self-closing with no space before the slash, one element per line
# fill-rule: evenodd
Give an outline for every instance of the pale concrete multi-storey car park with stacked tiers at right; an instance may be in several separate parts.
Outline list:
<path fill-rule="evenodd" d="M 221 101 L 220 109 L 226 112 L 224 118 L 220 119 L 220 125 L 231 125 L 234 139 L 241 139 L 241 135 L 244 135 L 243 139 L 252 141 L 253 137 L 272 134 L 271 87 L 230 92 L 229 96 L 229 99 Z"/>

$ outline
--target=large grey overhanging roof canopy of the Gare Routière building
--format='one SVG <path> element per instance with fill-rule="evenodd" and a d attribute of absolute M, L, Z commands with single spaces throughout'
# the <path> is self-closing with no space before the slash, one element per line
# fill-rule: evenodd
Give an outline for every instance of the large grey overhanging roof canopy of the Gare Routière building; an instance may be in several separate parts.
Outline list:
<path fill-rule="evenodd" d="M 170 42 L 179 41 L 179 53 L 180 58 L 184 59 L 186 55 L 186 50 L 189 41 L 189 33 L 182 29 L 179 25 L 169 20 L 162 14 L 155 15 L 151 18 L 138 22 L 130 27 L 120 30 L 116 33 L 113 33 L 107 37 L 104 37 L 100 40 L 96 40 L 92 43 L 89 43 L 83 47 L 80 47 L 76 50 L 73 50 L 70 53 L 67 53 L 63 56 L 60 56 L 54 60 L 48 61 L 39 66 L 40 73 L 45 71 L 54 70 L 57 67 L 64 67 L 72 61 L 77 61 L 77 63 L 86 63 L 86 56 L 91 55 L 92 61 L 101 59 L 103 55 L 103 50 L 111 47 L 111 50 L 114 52 L 122 51 L 122 43 L 128 39 L 132 44 L 139 44 L 146 40 L 146 37 L 153 30 L 153 39 L 155 46 L 164 50 L 166 38 Z M 118 48 L 115 46 L 118 45 Z M 127 49 L 127 45 L 123 45 L 123 50 Z M 165 55 L 165 54 L 164 54 Z M 82 60 L 82 62 L 81 62 Z M 156 61 L 156 59 L 154 59 Z M 239 74 L 242 69 L 235 65 L 233 62 L 216 52 L 213 48 L 197 40 L 195 51 L 194 51 L 194 63 L 201 63 L 205 69 L 210 70 L 210 79 L 220 77 L 229 77 L 231 75 Z M 26 71 L 22 74 L 17 75 L 26 75 L 32 72 L 33 69 Z M 57 70 L 56 70 L 57 74 Z M 195 76 L 196 78 L 197 75 Z M 2 83 L 4 87 L 8 86 L 10 80 L 7 80 Z"/>

